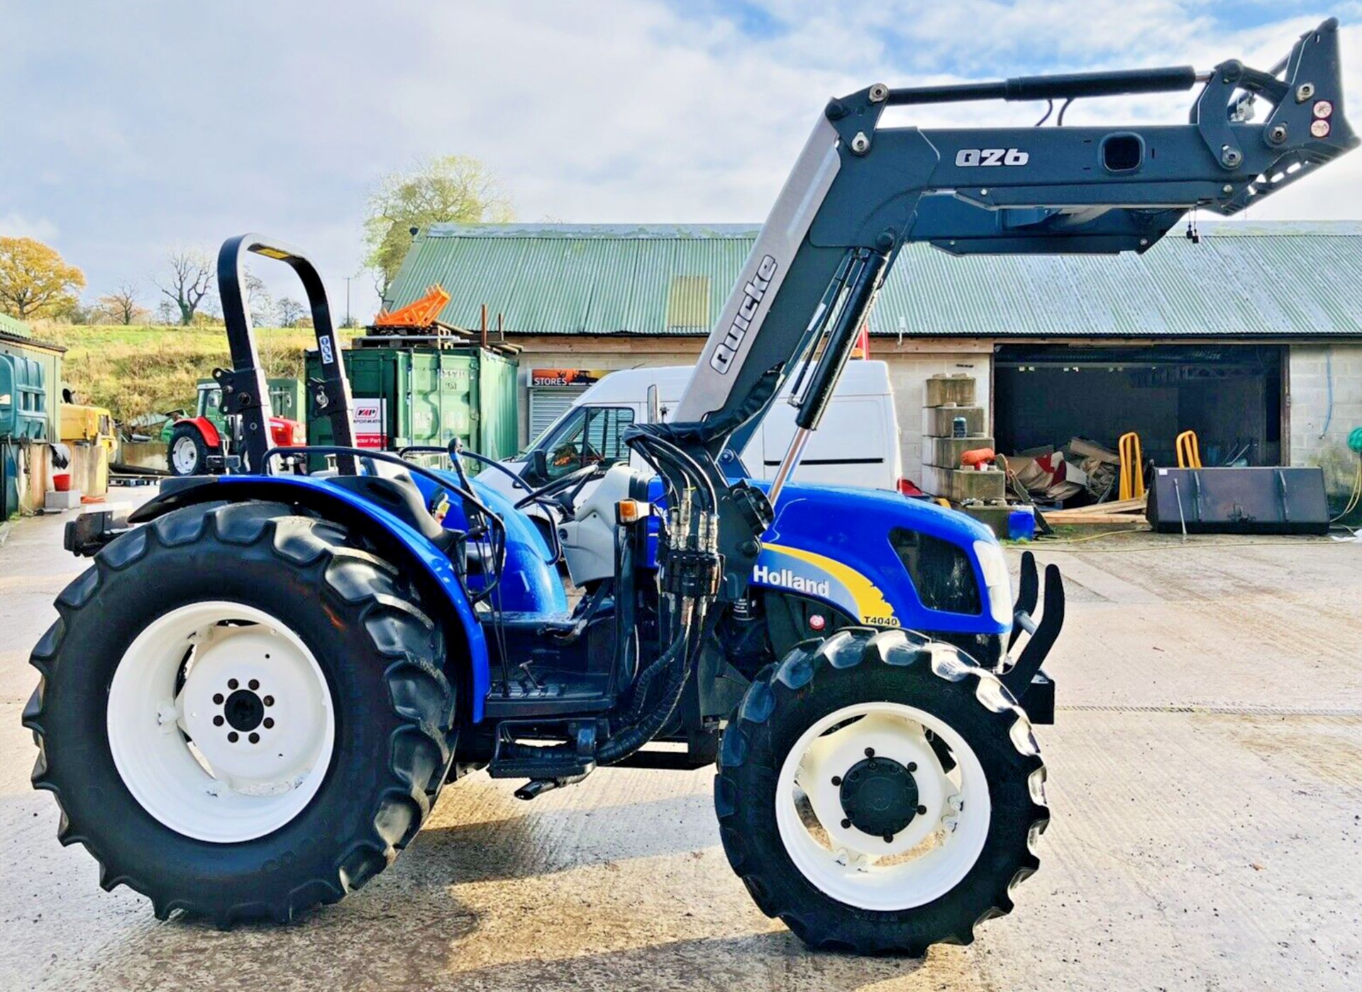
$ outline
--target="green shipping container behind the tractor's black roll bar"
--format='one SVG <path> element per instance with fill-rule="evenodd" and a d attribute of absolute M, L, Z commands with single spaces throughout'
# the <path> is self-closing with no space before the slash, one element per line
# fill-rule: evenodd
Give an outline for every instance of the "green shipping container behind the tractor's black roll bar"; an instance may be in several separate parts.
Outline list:
<path fill-rule="evenodd" d="M 396 450 L 409 445 L 463 445 L 492 459 L 516 452 L 518 362 L 479 347 L 346 348 L 354 396 L 355 444 Z M 308 352 L 308 378 L 321 377 Z M 308 415 L 308 444 L 331 444 L 331 422 Z"/>

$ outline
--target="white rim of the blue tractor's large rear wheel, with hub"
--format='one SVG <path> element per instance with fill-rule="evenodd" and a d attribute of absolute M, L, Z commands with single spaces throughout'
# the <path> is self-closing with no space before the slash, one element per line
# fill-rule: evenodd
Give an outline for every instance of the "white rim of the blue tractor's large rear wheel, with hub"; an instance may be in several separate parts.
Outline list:
<path fill-rule="evenodd" d="M 142 808 L 185 837 L 233 844 L 278 830 L 312 801 L 331 765 L 335 714 L 297 634 L 263 610 L 210 601 L 172 610 L 128 645 L 109 686 L 108 731 Z"/>

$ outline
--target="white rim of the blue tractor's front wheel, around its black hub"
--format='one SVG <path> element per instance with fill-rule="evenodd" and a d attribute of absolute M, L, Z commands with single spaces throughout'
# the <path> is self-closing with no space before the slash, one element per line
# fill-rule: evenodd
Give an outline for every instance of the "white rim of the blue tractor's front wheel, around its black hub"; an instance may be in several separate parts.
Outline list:
<path fill-rule="evenodd" d="M 949 774 L 923 731 L 949 747 L 956 761 Z M 881 761 L 915 766 L 925 812 L 891 842 L 843 826 L 840 780 L 868 747 Z M 990 810 L 987 777 L 964 738 L 940 717 L 898 702 L 859 702 L 823 717 L 790 748 L 776 780 L 776 826 L 790 860 L 824 894 L 859 909 L 911 909 L 951 891 L 979 860 Z"/>

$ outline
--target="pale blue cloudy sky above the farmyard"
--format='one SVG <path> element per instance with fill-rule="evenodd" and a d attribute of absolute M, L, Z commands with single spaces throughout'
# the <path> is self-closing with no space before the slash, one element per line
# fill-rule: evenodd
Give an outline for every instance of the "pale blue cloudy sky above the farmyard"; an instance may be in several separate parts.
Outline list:
<path fill-rule="evenodd" d="M 266 231 L 312 252 L 338 310 L 357 276 L 368 317 L 366 196 L 424 156 L 482 158 L 522 220 L 756 222 L 829 95 L 1231 57 L 1268 68 L 1328 15 L 1346 26 L 1355 102 L 1359 0 L 0 0 L 0 234 L 54 245 L 89 299 L 131 279 L 154 305 L 170 248 Z M 1066 122 L 1177 122 L 1190 99 L 1084 101 Z M 891 122 L 1030 124 L 1041 109 Z M 1362 154 L 1250 219 L 1362 218 L 1359 182 Z"/>

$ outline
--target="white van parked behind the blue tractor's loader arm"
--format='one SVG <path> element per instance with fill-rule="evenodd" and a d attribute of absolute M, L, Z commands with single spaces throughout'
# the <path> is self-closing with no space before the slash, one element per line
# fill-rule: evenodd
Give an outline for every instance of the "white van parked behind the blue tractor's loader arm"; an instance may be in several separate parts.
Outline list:
<path fill-rule="evenodd" d="M 689 365 L 612 371 L 582 393 L 520 454 L 503 464 L 524 476 L 535 461 L 534 453 L 543 452 L 546 478 L 524 479 L 530 486 L 542 486 L 584 465 L 628 461 L 632 452 L 624 444 L 624 430 L 648 419 L 650 386 L 656 386 L 661 418 L 667 420 L 693 371 Z M 794 407 L 786 401 L 789 388 L 790 382 L 742 450 L 742 463 L 752 478 L 774 478 L 794 437 Z M 642 468 L 642 463 L 637 467 Z M 530 475 L 537 474 L 531 471 Z M 831 486 L 900 489 L 899 422 L 889 391 L 889 367 L 884 362 L 847 362 L 823 423 L 805 445 L 794 478 Z M 524 490 L 516 489 L 494 468 L 484 469 L 478 482 L 507 495 L 524 495 Z M 537 508 L 527 509 L 534 514 Z"/>

